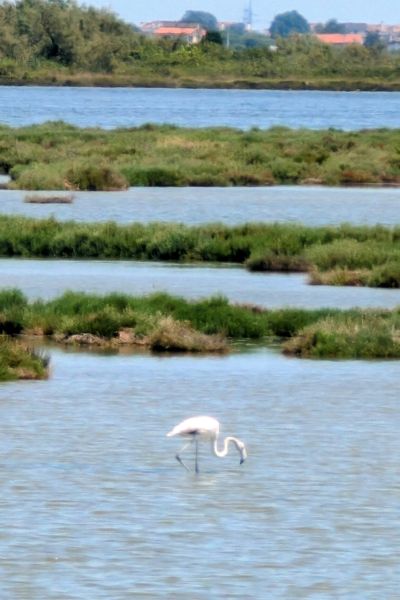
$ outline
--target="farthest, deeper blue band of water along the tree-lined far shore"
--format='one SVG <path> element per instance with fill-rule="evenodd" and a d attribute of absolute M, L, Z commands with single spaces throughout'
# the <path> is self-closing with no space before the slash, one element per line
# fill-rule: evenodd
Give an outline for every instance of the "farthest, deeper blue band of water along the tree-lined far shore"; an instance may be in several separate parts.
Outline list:
<path fill-rule="evenodd" d="M 314 92 L 0 86 L 0 123 L 80 127 L 173 123 L 364 129 L 399 127 L 399 92 Z"/>

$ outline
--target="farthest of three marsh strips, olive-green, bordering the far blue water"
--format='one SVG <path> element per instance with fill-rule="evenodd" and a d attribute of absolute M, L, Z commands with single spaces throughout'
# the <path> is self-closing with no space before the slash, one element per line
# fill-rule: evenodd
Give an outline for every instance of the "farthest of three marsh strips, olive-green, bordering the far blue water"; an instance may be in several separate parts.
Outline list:
<path fill-rule="evenodd" d="M 241 131 L 0 126 L 0 171 L 29 190 L 268 184 L 399 185 L 400 129 Z"/>

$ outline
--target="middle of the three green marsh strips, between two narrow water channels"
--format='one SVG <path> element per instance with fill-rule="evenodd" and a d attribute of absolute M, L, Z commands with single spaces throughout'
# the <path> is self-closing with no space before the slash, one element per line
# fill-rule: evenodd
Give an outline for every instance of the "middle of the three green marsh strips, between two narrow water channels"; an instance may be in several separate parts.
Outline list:
<path fill-rule="evenodd" d="M 0 256 L 225 262 L 314 284 L 400 287 L 400 226 L 58 222 L 0 216 Z"/>

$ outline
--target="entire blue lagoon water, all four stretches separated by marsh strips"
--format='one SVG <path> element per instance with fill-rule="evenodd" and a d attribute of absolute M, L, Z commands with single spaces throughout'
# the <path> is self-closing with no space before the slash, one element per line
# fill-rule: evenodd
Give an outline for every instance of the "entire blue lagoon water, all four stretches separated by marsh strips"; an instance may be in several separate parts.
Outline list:
<path fill-rule="evenodd" d="M 0 87 L 0 123 L 398 127 L 398 93 Z M 210 108 L 212 107 L 212 108 Z M 81 221 L 395 225 L 397 190 L 132 189 L 0 211 Z M 263 306 L 384 306 L 399 290 L 313 287 L 237 267 L 0 260 L 1 287 Z M 3 600 L 398 598 L 399 361 L 308 361 L 256 345 L 228 356 L 45 347 L 51 376 L 0 384 Z M 246 441 L 201 453 L 195 477 L 165 433 L 194 414 Z"/>

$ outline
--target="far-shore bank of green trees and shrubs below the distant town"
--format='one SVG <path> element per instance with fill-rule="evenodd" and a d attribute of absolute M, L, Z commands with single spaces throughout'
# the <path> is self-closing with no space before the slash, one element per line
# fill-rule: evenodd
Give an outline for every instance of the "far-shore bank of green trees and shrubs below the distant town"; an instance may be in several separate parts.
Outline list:
<path fill-rule="evenodd" d="M 289 32 L 306 31 L 292 13 L 289 21 Z M 246 39 L 248 48 L 193 46 L 150 39 L 113 13 L 74 0 L 3 1 L 0 84 L 400 89 L 400 55 L 376 45 L 332 48 L 292 35 L 272 49 L 251 47 L 263 44 L 261 37 Z"/>

